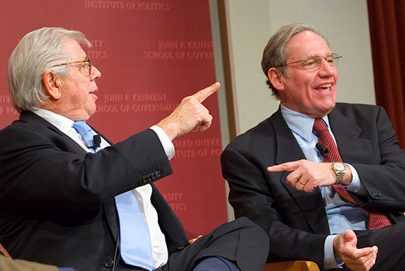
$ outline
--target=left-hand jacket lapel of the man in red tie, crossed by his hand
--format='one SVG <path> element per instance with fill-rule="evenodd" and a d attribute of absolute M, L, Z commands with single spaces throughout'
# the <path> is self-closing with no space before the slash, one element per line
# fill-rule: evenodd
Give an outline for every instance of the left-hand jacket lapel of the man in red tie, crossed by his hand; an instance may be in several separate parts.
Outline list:
<path fill-rule="evenodd" d="M 288 128 L 284 117 L 281 115 L 281 110 L 278 110 L 274 119 L 272 119 L 274 132 L 276 134 L 276 164 L 282 164 L 287 161 L 296 161 L 306 159 L 301 147 L 296 138 Z M 289 172 L 284 172 L 281 175 L 280 182 L 291 194 L 291 197 L 306 218 L 306 223 L 314 233 L 329 233 L 329 226 L 326 219 L 325 204 L 323 202 L 320 188 L 316 188 L 313 193 L 305 193 L 298 191 L 286 183 L 286 177 Z"/>

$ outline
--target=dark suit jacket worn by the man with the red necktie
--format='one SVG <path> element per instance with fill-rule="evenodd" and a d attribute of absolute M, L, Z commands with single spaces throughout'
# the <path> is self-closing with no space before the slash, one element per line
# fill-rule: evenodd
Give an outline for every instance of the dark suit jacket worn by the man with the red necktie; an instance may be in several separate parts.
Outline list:
<path fill-rule="evenodd" d="M 357 170 L 367 196 L 360 206 L 378 208 L 393 223 L 404 221 L 405 154 L 382 107 L 338 103 L 328 115 L 340 156 Z M 269 261 L 312 260 L 323 269 L 329 234 L 325 205 L 317 188 L 297 191 L 286 184 L 289 172 L 267 166 L 306 159 L 281 111 L 234 139 L 222 153 L 235 216 L 247 216 L 269 234 Z"/>

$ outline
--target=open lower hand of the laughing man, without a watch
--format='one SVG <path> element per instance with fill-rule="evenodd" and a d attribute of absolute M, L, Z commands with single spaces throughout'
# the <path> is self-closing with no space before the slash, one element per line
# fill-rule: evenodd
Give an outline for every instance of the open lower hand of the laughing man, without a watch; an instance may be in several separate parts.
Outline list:
<path fill-rule="evenodd" d="M 352 230 L 346 230 L 333 240 L 333 252 L 336 260 L 342 260 L 351 270 L 370 270 L 377 259 L 378 248 L 357 248 L 357 236 Z"/>

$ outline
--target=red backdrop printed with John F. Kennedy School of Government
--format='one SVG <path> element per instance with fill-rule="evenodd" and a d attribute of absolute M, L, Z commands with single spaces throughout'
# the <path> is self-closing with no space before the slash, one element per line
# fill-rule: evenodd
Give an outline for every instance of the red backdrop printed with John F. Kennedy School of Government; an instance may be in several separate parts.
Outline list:
<path fill-rule="evenodd" d="M 18 118 L 9 102 L 7 63 L 18 40 L 43 26 L 85 33 L 102 72 L 90 124 L 113 142 L 156 124 L 180 100 L 215 82 L 208 1 L 0 1 L 0 128 Z M 204 105 L 211 129 L 174 140 L 174 174 L 156 182 L 189 237 L 227 220 L 220 174 L 217 96 Z M 114 161 L 111 161 L 114 163 Z"/>

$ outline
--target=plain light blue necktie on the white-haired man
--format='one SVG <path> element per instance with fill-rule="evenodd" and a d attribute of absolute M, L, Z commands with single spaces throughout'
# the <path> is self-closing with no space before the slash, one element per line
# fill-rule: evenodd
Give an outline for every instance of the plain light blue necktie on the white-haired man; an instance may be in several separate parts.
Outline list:
<path fill-rule="evenodd" d="M 83 121 L 72 127 L 82 136 L 88 147 L 93 146 L 92 128 Z M 98 152 L 90 148 L 92 152 Z M 153 270 L 152 243 L 148 225 L 134 193 L 130 190 L 115 197 L 119 217 L 121 257 L 128 265 Z"/>

